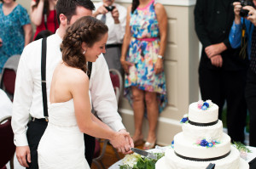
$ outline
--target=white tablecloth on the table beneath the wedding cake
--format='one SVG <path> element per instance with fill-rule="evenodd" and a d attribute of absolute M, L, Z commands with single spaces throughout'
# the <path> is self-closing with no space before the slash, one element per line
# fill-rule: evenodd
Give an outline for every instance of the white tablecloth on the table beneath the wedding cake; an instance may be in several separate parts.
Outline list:
<path fill-rule="evenodd" d="M 252 161 L 255 157 L 256 157 L 256 147 L 250 147 L 247 146 L 248 149 L 250 149 L 252 151 L 252 153 L 248 153 L 247 154 L 247 162 Z M 163 152 L 164 149 L 166 149 L 165 147 L 156 147 L 156 149 L 149 149 L 150 152 L 153 153 L 159 153 L 159 152 Z M 119 165 L 123 165 L 123 161 L 117 161 L 116 163 L 114 163 L 112 166 L 110 166 L 108 169 L 119 169 Z"/>

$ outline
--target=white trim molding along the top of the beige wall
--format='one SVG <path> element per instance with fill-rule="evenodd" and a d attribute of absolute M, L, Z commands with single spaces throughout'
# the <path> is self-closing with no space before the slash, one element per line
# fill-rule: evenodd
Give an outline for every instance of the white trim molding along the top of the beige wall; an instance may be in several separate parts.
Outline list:
<path fill-rule="evenodd" d="M 93 0 L 102 1 L 102 0 Z M 173 6 L 193 6 L 196 0 L 156 0 L 163 5 L 173 5 Z M 116 3 L 131 3 L 132 0 L 115 0 Z"/>

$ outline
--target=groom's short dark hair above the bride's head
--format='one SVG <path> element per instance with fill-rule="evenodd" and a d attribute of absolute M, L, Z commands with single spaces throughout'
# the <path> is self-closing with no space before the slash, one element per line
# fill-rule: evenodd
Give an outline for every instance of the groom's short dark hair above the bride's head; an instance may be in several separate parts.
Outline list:
<path fill-rule="evenodd" d="M 58 0 L 56 4 L 56 14 L 59 25 L 61 23 L 60 14 L 64 14 L 67 17 L 67 23 L 69 23 L 72 16 L 76 14 L 76 8 L 78 6 L 91 11 L 95 10 L 95 6 L 90 0 Z"/>

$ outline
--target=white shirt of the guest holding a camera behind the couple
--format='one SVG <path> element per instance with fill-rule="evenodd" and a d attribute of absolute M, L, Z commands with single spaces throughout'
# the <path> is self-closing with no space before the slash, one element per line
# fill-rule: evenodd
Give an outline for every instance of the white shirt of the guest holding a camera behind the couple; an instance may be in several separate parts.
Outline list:
<path fill-rule="evenodd" d="M 94 3 L 96 10 L 100 8 L 103 3 Z M 106 25 L 108 25 L 108 41 L 107 44 L 117 44 L 123 43 L 123 38 L 125 36 L 125 25 L 126 25 L 126 15 L 127 10 L 125 7 L 119 5 L 118 3 L 113 3 L 119 11 L 119 24 L 114 24 L 112 14 L 108 12 L 106 14 Z M 101 20 L 102 14 L 98 14 L 96 19 Z"/>

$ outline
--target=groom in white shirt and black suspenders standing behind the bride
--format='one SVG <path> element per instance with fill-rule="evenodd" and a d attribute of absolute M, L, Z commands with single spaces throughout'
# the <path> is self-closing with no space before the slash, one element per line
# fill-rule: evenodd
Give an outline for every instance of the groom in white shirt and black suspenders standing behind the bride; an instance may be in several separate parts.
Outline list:
<path fill-rule="evenodd" d="M 60 27 L 47 38 L 46 88 L 49 103 L 49 87 L 55 65 L 61 61 L 60 44 L 67 27 L 82 16 L 91 15 L 94 5 L 90 0 L 58 0 L 57 19 Z M 38 168 L 38 143 L 48 122 L 44 118 L 41 87 L 41 48 L 40 42 L 32 42 L 21 54 L 15 82 L 15 98 L 12 127 L 15 133 L 16 155 L 21 166 Z M 108 65 L 101 55 L 92 65 L 90 76 L 90 98 L 99 118 L 109 129 L 124 132 L 125 127 L 117 112 L 117 102 L 108 73 Z M 32 121 L 29 121 L 29 116 Z M 27 127 L 27 130 L 26 130 Z M 123 153 L 130 153 L 133 147 L 131 137 L 124 137 L 126 144 L 119 147 Z M 85 157 L 91 164 L 95 138 L 84 136 Z"/>

